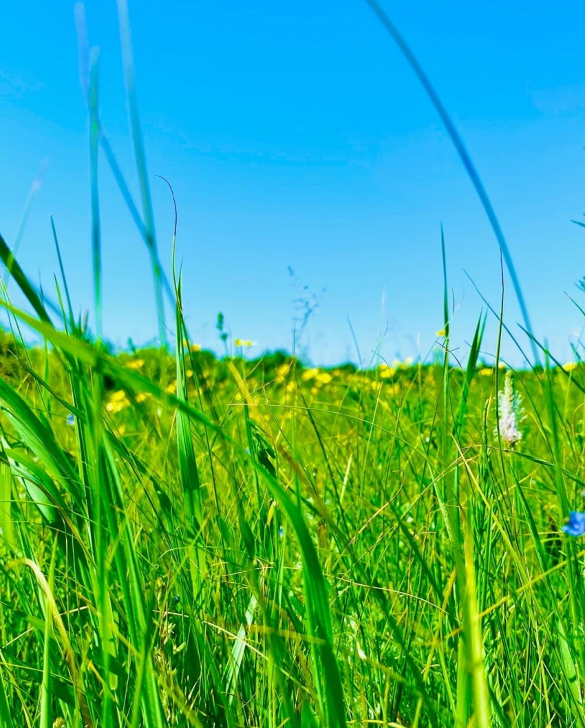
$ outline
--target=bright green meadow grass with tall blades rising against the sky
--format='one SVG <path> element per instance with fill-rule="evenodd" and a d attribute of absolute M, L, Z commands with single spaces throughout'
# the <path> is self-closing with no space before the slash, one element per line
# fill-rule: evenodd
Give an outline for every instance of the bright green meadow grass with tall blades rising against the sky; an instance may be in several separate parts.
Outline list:
<path fill-rule="evenodd" d="M 119 16 L 142 212 L 88 52 L 97 336 L 74 314 L 55 225 L 57 304 L 0 237 L 4 283 L 29 304 L 4 286 L 0 726 L 583 728 L 585 550 L 561 527 L 582 510 L 584 365 L 531 336 L 544 365 L 516 373 L 522 438 L 506 442 L 503 309 L 495 365 L 479 360 L 484 317 L 454 365 L 446 262 L 433 363 L 251 360 L 222 317 L 226 355 L 200 350 L 174 260 L 172 287 L 160 266 L 122 0 Z M 81 8 L 77 23 L 85 47 Z M 158 347 L 101 338 L 101 151 L 152 262 Z"/>

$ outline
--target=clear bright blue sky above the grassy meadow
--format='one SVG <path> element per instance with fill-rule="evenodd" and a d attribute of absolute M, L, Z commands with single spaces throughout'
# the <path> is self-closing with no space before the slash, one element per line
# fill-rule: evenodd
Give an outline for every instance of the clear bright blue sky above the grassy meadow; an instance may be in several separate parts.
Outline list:
<path fill-rule="evenodd" d="M 585 229 L 570 218 L 585 208 L 585 5 L 385 7 L 482 174 L 535 332 L 568 358 L 584 323 L 565 292 L 583 298 L 574 283 L 585 274 Z M 101 49 L 103 122 L 136 192 L 116 4 L 89 0 L 86 11 Z M 93 310 L 73 3 L 30 0 L 2 13 L 0 232 L 14 240 L 48 159 L 19 258 L 52 293 L 54 215 L 74 304 Z M 291 266 L 320 301 L 304 333 L 315 363 L 356 358 L 348 317 L 363 357 L 380 335 L 390 360 L 424 356 L 442 326 L 442 222 L 453 343 L 465 357 L 482 301 L 463 269 L 497 305 L 498 246 L 435 111 L 366 4 L 130 0 L 130 20 L 160 254 L 169 271 L 172 205 L 155 174 L 176 192 L 195 341 L 216 347 L 221 310 L 255 352 L 290 348 Z M 149 262 L 103 157 L 101 196 L 104 332 L 120 345 L 147 341 L 157 331 Z M 506 320 L 519 321 L 509 285 Z"/>

